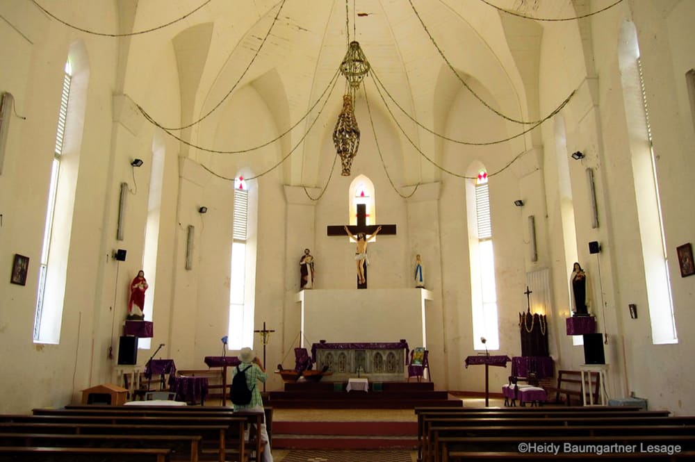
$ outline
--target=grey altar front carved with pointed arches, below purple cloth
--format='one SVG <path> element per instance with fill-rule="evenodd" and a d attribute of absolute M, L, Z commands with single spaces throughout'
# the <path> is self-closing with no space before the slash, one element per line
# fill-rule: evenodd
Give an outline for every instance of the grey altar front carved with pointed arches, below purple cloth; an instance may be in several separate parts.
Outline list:
<path fill-rule="evenodd" d="M 311 347 L 316 369 L 327 367 L 327 381 L 366 377 L 370 381 L 402 381 L 408 344 L 395 343 L 314 343 Z"/>

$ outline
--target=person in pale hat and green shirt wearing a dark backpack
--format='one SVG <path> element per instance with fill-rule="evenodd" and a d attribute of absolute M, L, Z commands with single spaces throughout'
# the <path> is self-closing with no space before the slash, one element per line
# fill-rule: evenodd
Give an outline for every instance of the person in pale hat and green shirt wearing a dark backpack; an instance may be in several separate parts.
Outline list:
<path fill-rule="evenodd" d="M 231 402 L 234 404 L 234 412 L 263 410 L 263 397 L 256 386 L 258 381 L 265 382 L 268 374 L 265 373 L 263 362 L 249 347 L 244 347 L 239 353 L 241 363 L 231 370 Z M 270 440 L 265 423 L 261 424 L 261 443 L 263 443 L 263 462 L 272 462 L 270 453 Z"/>

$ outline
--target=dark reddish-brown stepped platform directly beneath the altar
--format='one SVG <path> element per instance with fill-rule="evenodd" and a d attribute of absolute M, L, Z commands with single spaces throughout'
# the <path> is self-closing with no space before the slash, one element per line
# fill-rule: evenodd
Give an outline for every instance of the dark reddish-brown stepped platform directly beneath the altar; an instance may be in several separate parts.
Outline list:
<path fill-rule="evenodd" d="M 268 393 L 275 409 L 414 409 L 417 406 L 461 407 L 461 399 L 431 382 L 373 382 L 368 391 L 345 391 L 347 382 L 285 383 Z"/>

